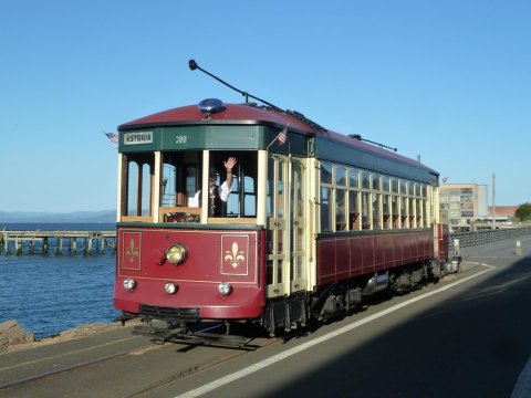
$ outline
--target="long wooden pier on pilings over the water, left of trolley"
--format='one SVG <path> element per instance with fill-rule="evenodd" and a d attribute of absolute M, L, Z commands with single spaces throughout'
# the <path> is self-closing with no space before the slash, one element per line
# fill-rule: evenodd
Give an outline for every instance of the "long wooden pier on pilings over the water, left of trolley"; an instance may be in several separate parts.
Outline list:
<path fill-rule="evenodd" d="M 0 231 L 0 254 L 103 254 L 116 251 L 116 231 Z"/>

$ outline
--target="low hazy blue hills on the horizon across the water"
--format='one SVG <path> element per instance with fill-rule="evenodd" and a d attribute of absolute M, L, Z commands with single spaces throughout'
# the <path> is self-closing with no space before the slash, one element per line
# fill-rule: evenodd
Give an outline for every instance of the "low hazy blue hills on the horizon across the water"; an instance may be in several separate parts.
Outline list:
<path fill-rule="evenodd" d="M 70 213 L 50 213 L 31 211 L 0 211 L 2 222 L 115 222 L 116 210 L 74 211 Z"/>

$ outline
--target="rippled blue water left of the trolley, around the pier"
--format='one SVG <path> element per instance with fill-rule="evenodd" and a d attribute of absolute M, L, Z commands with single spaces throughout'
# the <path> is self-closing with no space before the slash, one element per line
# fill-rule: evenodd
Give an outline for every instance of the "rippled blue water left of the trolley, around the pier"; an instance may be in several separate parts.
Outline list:
<path fill-rule="evenodd" d="M 3 224 L 2 224 L 3 227 Z M 112 223 L 9 223 L 8 230 L 111 231 Z M 0 255 L 0 322 L 15 320 L 37 338 L 82 323 L 111 322 L 114 253 Z"/>

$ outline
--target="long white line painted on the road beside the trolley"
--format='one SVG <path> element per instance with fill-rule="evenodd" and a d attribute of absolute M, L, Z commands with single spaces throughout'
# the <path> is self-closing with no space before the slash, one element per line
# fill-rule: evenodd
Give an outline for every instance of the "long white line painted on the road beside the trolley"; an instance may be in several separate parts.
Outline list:
<path fill-rule="evenodd" d="M 414 297 L 414 298 L 410 298 L 410 300 L 405 301 L 405 302 L 403 302 L 403 303 L 396 304 L 396 305 L 394 305 L 394 306 L 392 306 L 392 307 L 389 307 L 389 308 L 387 308 L 387 310 L 384 310 L 384 311 L 381 311 L 381 312 L 378 312 L 378 313 L 376 313 L 376 314 L 369 315 L 369 316 L 367 316 L 367 317 L 365 317 L 365 318 L 363 318 L 363 320 L 360 320 L 360 321 L 356 321 L 356 322 L 354 322 L 354 323 L 352 323 L 352 324 L 350 324 L 350 325 L 343 326 L 343 327 L 341 327 L 341 328 L 339 328 L 339 329 L 336 329 L 336 331 L 334 331 L 334 332 L 330 332 L 330 333 L 327 333 L 327 334 L 325 334 L 325 335 L 323 335 L 323 336 L 321 336 L 321 337 L 314 338 L 314 339 L 309 341 L 309 342 L 306 342 L 306 343 L 303 343 L 303 344 L 301 344 L 301 345 L 299 345 L 299 346 L 296 346 L 296 347 L 293 347 L 293 348 L 287 349 L 285 352 L 282 352 L 282 353 L 280 353 L 280 354 L 273 355 L 272 357 L 270 357 L 270 358 L 268 358 L 268 359 L 264 359 L 264 360 L 262 360 L 262 362 L 259 362 L 259 363 L 257 363 L 257 364 L 254 364 L 254 365 L 251 365 L 251 366 L 249 366 L 249 367 L 247 367 L 247 368 L 244 368 L 244 369 L 241 369 L 241 370 L 236 371 L 236 373 L 233 373 L 233 374 L 231 374 L 231 375 L 227 375 L 227 376 L 225 376 L 225 377 L 221 377 L 221 378 L 219 378 L 219 379 L 217 379 L 217 380 L 214 380 L 214 381 L 211 381 L 211 383 L 209 383 L 209 384 L 206 384 L 206 385 L 204 385 L 204 386 L 201 386 L 201 387 L 198 387 L 198 388 L 196 388 L 196 389 L 192 389 L 192 390 L 189 390 L 189 391 L 187 391 L 187 392 L 184 392 L 184 394 L 177 396 L 176 398 L 194 398 L 194 397 L 199 397 L 199 396 L 201 396 L 201 395 L 204 395 L 204 394 L 214 391 L 214 390 L 217 389 L 217 388 L 220 388 L 220 387 L 222 387 L 222 386 L 225 386 L 225 385 L 228 385 L 228 384 L 230 384 L 230 383 L 232 383 L 232 381 L 236 381 L 236 380 L 238 380 L 238 379 L 240 379 L 240 378 L 242 378 L 242 377 L 246 377 L 246 376 L 249 376 L 249 375 L 251 375 L 251 374 L 253 374 L 253 373 L 256 373 L 256 371 L 259 371 L 259 370 L 261 370 L 261 369 L 263 369 L 263 368 L 266 368 L 266 367 L 268 367 L 268 366 L 270 366 L 270 365 L 273 365 L 273 364 L 275 364 L 275 363 L 279 362 L 279 360 L 289 358 L 289 357 L 291 357 L 291 356 L 293 356 L 293 355 L 295 355 L 295 354 L 299 354 L 299 353 L 301 353 L 301 352 L 303 352 L 303 350 L 305 350 L 305 349 L 312 348 L 313 346 L 316 346 L 317 344 L 321 344 L 321 343 L 326 342 L 326 341 L 329 341 L 329 339 L 331 339 L 331 338 L 337 337 L 337 336 L 340 336 L 340 335 L 342 335 L 342 334 L 344 334 L 344 333 L 351 332 L 351 331 L 353 331 L 353 329 L 355 329 L 355 328 L 357 328 L 357 327 L 360 327 L 360 326 L 366 325 L 366 324 L 368 324 L 368 323 L 371 323 L 371 322 L 373 322 L 373 321 L 376 321 L 376 320 L 378 320 L 378 318 L 381 318 L 381 317 L 383 317 L 383 316 L 386 316 L 386 315 L 388 315 L 388 314 L 391 314 L 391 313 L 393 313 L 393 312 L 395 312 L 395 311 L 398 311 L 398 310 L 400 310 L 400 308 L 404 308 L 405 306 L 408 306 L 408 305 L 410 305 L 410 304 L 414 304 L 414 303 L 416 303 L 416 302 L 418 302 L 418 301 L 420 301 L 420 300 L 427 298 L 427 297 L 433 296 L 433 295 L 435 295 L 435 294 L 445 292 L 445 291 L 447 291 L 447 290 L 449 290 L 449 289 L 451 289 L 451 287 L 454 287 L 454 286 L 457 286 L 457 285 L 459 285 L 459 284 L 461 284 L 461 283 L 468 282 L 468 281 L 470 281 L 470 280 L 472 280 L 472 279 L 475 279 L 475 277 L 478 277 L 478 276 L 482 275 L 482 274 L 486 273 L 486 272 L 489 272 L 489 271 L 492 271 L 493 269 L 496 269 L 496 266 L 488 265 L 488 264 L 482 264 L 482 263 L 471 263 L 471 262 L 470 262 L 470 264 L 473 264 L 473 265 L 482 265 L 482 266 L 486 266 L 487 270 L 480 271 L 480 272 L 478 272 L 478 273 L 476 273 L 476 274 L 473 274 L 473 275 L 464 277 L 464 279 L 461 279 L 461 280 L 459 280 L 459 281 L 456 281 L 456 282 L 454 282 L 454 283 L 447 284 L 446 286 L 442 286 L 442 287 L 437 289 L 437 290 L 435 290 L 435 291 L 424 293 L 424 294 L 421 294 L 421 295 L 419 295 L 419 296 L 417 296 L 417 297 Z"/>

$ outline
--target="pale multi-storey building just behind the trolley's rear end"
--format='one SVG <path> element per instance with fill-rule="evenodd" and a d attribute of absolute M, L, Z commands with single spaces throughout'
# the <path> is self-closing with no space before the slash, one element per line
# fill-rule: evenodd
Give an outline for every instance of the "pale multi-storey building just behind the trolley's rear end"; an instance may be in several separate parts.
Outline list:
<path fill-rule="evenodd" d="M 450 231 L 475 231 L 478 220 L 489 216 L 487 185 L 442 184 L 439 187 L 440 209 L 448 212 Z"/>

